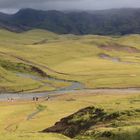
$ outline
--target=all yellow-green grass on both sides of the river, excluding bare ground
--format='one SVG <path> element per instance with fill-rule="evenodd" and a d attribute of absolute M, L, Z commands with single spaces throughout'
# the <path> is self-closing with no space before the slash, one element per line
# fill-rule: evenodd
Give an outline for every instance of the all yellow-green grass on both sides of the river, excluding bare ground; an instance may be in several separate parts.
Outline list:
<path fill-rule="evenodd" d="M 43 30 L 12 33 L 0 30 L 0 62 L 33 65 L 48 75 L 59 79 L 79 81 L 86 88 L 127 88 L 140 87 L 140 53 L 101 49 L 102 45 L 121 44 L 140 49 L 140 35 L 124 37 L 57 35 Z M 123 46 L 122 46 L 123 47 Z M 120 58 L 122 62 L 103 59 Z M 131 62 L 131 63 L 128 63 Z M 19 77 L 18 70 L 5 69 L 0 65 L 0 88 L 5 91 L 45 91 L 54 87 L 66 87 L 70 83 L 44 79 L 42 82 L 30 77 Z M 23 71 L 24 74 L 25 71 Z M 25 73 L 36 75 L 34 72 Z M 52 84 L 44 86 L 44 82 Z M 39 131 L 54 125 L 61 118 L 75 111 L 94 105 L 107 112 L 136 110 L 140 108 L 140 94 L 66 94 L 51 101 L 40 103 L 0 103 L 0 140 L 63 140 L 69 139 L 57 134 L 41 134 Z M 41 104 L 46 109 L 27 120 L 27 116 Z M 122 131 L 139 129 L 139 116 L 122 118 Z M 97 127 L 97 131 L 119 128 Z"/>

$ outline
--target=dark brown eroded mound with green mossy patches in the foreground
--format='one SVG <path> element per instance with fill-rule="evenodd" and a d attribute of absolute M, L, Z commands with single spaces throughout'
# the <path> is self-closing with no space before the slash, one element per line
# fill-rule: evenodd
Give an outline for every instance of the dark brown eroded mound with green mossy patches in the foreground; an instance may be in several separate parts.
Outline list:
<path fill-rule="evenodd" d="M 95 107 L 87 107 L 78 112 L 63 118 L 54 126 L 43 130 L 43 132 L 61 133 L 73 138 L 80 133 L 84 133 L 91 126 L 97 123 L 111 122 L 126 113 L 107 113 L 103 109 Z"/>

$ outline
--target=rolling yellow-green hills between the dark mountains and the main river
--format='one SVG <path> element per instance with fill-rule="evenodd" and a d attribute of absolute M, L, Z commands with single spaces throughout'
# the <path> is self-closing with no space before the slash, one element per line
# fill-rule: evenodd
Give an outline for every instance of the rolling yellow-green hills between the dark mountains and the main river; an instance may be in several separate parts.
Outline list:
<path fill-rule="evenodd" d="M 0 91 L 139 88 L 139 44 L 140 35 L 0 30 Z"/>

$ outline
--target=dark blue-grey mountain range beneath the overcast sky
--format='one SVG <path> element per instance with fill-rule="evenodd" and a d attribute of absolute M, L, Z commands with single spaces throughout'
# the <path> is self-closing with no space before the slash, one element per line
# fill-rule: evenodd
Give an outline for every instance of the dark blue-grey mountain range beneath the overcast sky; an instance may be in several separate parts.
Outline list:
<path fill-rule="evenodd" d="M 140 9 L 69 12 L 21 9 L 13 15 L 0 13 L 0 28 L 15 32 L 39 28 L 80 35 L 140 34 Z"/>

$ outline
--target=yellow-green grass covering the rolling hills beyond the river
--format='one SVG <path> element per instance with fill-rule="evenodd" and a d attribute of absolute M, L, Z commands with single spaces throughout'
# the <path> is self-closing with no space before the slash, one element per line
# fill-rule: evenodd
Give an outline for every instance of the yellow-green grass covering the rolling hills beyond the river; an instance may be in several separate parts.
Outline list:
<path fill-rule="evenodd" d="M 32 30 L 24 33 L 0 30 L 0 55 L 13 62 L 34 65 L 53 77 L 79 81 L 85 84 L 86 88 L 140 87 L 140 53 L 127 50 L 109 51 L 100 47 L 119 44 L 122 45 L 122 48 L 127 46 L 140 49 L 139 40 L 140 35 L 76 36 L 57 35 L 44 30 Z M 111 58 L 120 58 L 122 62 L 103 59 L 100 54 L 109 55 Z M 1 74 L 4 77 L 18 79 L 10 83 L 10 87 L 15 87 L 15 90 L 17 88 L 17 91 L 21 86 L 20 89 L 26 90 L 37 89 L 42 85 L 39 81 L 29 78 L 30 80 L 25 79 L 25 81 L 28 81 L 30 88 L 26 88 L 24 82 L 19 82 L 24 81 L 24 78 L 16 77 L 12 71 L 4 71 L 9 73 Z M 9 85 L 8 82 L 4 83 Z M 3 82 L 0 85 L 3 85 Z M 60 83 L 59 86 L 63 87 L 64 85 L 64 83 Z M 42 90 L 44 91 L 44 89 L 53 88 L 43 87 Z"/>

